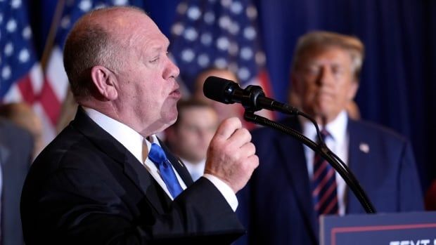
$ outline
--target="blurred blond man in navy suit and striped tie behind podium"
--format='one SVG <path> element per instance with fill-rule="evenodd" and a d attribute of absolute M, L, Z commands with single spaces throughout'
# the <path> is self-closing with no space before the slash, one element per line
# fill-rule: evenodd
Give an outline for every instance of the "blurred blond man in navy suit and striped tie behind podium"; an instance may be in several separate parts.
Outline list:
<path fill-rule="evenodd" d="M 316 121 L 326 145 L 350 167 L 376 211 L 421 211 L 409 141 L 347 114 L 359 88 L 363 57 L 364 45 L 356 37 L 333 32 L 302 36 L 291 68 L 300 110 Z M 306 119 L 281 123 L 318 141 Z M 365 213 L 342 177 L 309 147 L 271 128 L 252 131 L 252 137 L 261 164 L 240 193 L 238 209 L 248 225 L 249 244 L 319 244 L 319 216 Z"/>

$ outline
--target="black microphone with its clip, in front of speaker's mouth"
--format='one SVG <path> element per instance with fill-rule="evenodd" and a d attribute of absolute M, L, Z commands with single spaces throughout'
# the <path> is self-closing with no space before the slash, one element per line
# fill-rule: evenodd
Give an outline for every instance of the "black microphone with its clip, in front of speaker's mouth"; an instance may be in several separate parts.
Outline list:
<path fill-rule="evenodd" d="M 242 89 L 236 82 L 221 77 L 207 77 L 203 93 L 207 98 L 224 104 L 241 103 L 248 110 L 266 109 L 293 115 L 299 113 L 295 107 L 265 97 L 260 86 L 249 85 Z"/>

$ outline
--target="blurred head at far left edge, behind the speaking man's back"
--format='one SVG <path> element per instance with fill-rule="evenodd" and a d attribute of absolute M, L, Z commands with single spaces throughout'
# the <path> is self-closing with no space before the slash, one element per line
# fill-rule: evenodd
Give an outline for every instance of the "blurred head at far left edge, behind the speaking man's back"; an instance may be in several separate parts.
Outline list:
<path fill-rule="evenodd" d="M 13 121 L 16 125 L 29 131 L 34 140 L 33 158 L 44 147 L 42 140 L 42 121 L 25 102 L 13 102 L 0 105 L 0 116 Z"/>

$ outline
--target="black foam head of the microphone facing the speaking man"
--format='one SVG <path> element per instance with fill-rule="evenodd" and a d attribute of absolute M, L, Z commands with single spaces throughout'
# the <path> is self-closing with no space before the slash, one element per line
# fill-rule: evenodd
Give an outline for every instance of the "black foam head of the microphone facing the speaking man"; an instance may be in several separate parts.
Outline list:
<path fill-rule="evenodd" d="M 227 80 L 221 77 L 207 77 L 205 84 L 203 84 L 203 93 L 207 98 L 216 100 L 225 104 L 231 104 L 231 94 L 239 88 L 236 82 Z"/>

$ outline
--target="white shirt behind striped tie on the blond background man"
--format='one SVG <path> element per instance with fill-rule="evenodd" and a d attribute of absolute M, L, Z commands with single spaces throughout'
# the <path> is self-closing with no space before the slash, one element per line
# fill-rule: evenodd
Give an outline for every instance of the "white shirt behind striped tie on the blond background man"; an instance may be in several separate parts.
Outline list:
<path fill-rule="evenodd" d="M 348 165 L 348 149 L 349 149 L 349 134 L 347 132 L 347 123 L 348 116 L 347 112 L 342 111 L 338 114 L 333 121 L 326 125 L 326 130 L 330 133 L 331 137 L 326 138 L 327 147 L 335 153 L 346 165 Z M 319 126 L 319 130 L 321 130 L 321 126 Z M 318 138 L 316 137 L 316 129 L 312 122 L 302 119 L 302 133 L 304 136 L 309 138 L 310 140 L 317 142 Z M 307 171 L 309 173 L 309 180 L 312 180 L 314 176 L 314 154 L 315 152 L 304 145 L 304 155 L 306 157 Z M 345 190 L 346 183 L 345 180 L 336 172 L 335 175 L 336 184 L 338 185 L 338 207 L 339 214 L 342 216 L 345 214 Z"/>

